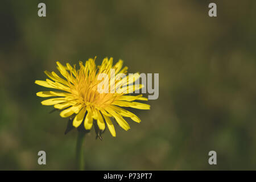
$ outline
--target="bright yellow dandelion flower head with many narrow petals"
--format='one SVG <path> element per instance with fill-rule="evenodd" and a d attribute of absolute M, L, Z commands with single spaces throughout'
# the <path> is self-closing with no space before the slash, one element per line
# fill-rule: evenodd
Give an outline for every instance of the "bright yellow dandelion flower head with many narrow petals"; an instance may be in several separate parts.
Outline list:
<path fill-rule="evenodd" d="M 55 72 L 45 71 L 51 80 L 36 80 L 35 83 L 61 91 L 43 91 L 36 93 L 36 95 L 54 97 L 42 101 L 42 105 L 53 105 L 55 109 L 61 111 L 61 117 L 71 117 L 75 127 L 79 127 L 83 122 L 85 130 L 90 130 L 93 126 L 93 119 L 95 119 L 98 129 L 104 131 L 105 125 L 107 125 L 110 133 L 115 137 L 115 129 L 110 118 L 113 117 L 118 125 L 126 131 L 130 129 L 130 126 L 123 117 L 129 117 L 138 123 L 141 122 L 137 115 L 122 107 L 150 109 L 150 105 L 134 102 L 135 100 L 147 101 L 147 98 L 142 97 L 142 94 L 138 96 L 126 95 L 141 89 L 143 85 L 134 84 L 139 78 L 139 73 L 123 77 L 128 68 L 122 68 L 122 60 L 113 66 L 113 59 L 105 58 L 97 68 L 95 58 L 86 61 L 85 65 L 80 61 L 80 69 L 78 70 L 76 65 L 72 67 L 68 63 L 66 65 L 60 64 L 59 61 L 56 63 L 57 69 L 63 77 L 58 76 Z M 108 87 L 102 86 L 107 92 L 98 92 L 99 84 L 102 84 L 102 80 L 98 79 L 98 76 L 102 73 L 108 76 L 109 85 L 105 84 Z M 130 86 L 131 84 L 133 86 Z"/>

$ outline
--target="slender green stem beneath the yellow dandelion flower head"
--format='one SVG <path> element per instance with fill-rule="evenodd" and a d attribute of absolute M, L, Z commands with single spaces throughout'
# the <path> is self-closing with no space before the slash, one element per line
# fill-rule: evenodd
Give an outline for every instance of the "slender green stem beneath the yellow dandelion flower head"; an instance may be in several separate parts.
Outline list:
<path fill-rule="evenodd" d="M 84 132 L 77 132 L 77 143 L 76 143 L 76 166 L 77 170 L 83 171 L 84 170 L 84 156 L 82 152 L 82 144 L 84 141 L 85 133 Z"/>

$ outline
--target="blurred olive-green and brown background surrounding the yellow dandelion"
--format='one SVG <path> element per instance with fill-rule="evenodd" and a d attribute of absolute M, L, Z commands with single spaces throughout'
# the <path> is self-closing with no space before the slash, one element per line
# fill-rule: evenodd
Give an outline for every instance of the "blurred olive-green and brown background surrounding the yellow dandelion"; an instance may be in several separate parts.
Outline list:
<path fill-rule="evenodd" d="M 68 119 L 40 104 L 47 88 L 34 81 L 57 71 L 56 60 L 94 56 L 159 73 L 159 98 L 115 138 L 92 130 L 86 170 L 256 169 L 255 18 L 255 1 L 1 1 L 0 169 L 76 169 L 77 132 L 64 135 Z"/>

